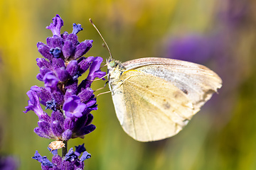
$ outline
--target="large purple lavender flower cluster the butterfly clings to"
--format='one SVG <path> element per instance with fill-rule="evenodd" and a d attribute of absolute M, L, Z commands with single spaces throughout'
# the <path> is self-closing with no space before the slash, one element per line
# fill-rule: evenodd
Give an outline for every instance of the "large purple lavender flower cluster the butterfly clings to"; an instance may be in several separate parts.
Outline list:
<path fill-rule="evenodd" d="M 34 111 L 38 115 L 38 127 L 34 129 L 38 136 L 67 141 L 95 130 L 90 112 L 97 110 L 97 103 L 90 86 L 96 77 L 106 73 L 100 70 L 101 57 L 82 57 L 92 47 L 92 40 L 78 41 L 76 34 L 82 26 L 73 24 L 73 33 L 60 34 L 62 26 L 63 20 L 56 15 L 47 27 L 53 36 L 46 39 L 46 44 L 37 43 L 45 57 L 36 59 L 40 68 L 37 78 L 45 87 L 31 87 L 24 113 Z M 87 71 L 87 79 L 78 84 L 78 78 Z M 51 115 L 43 111 L 41 104 L 53 111 Z"/>

